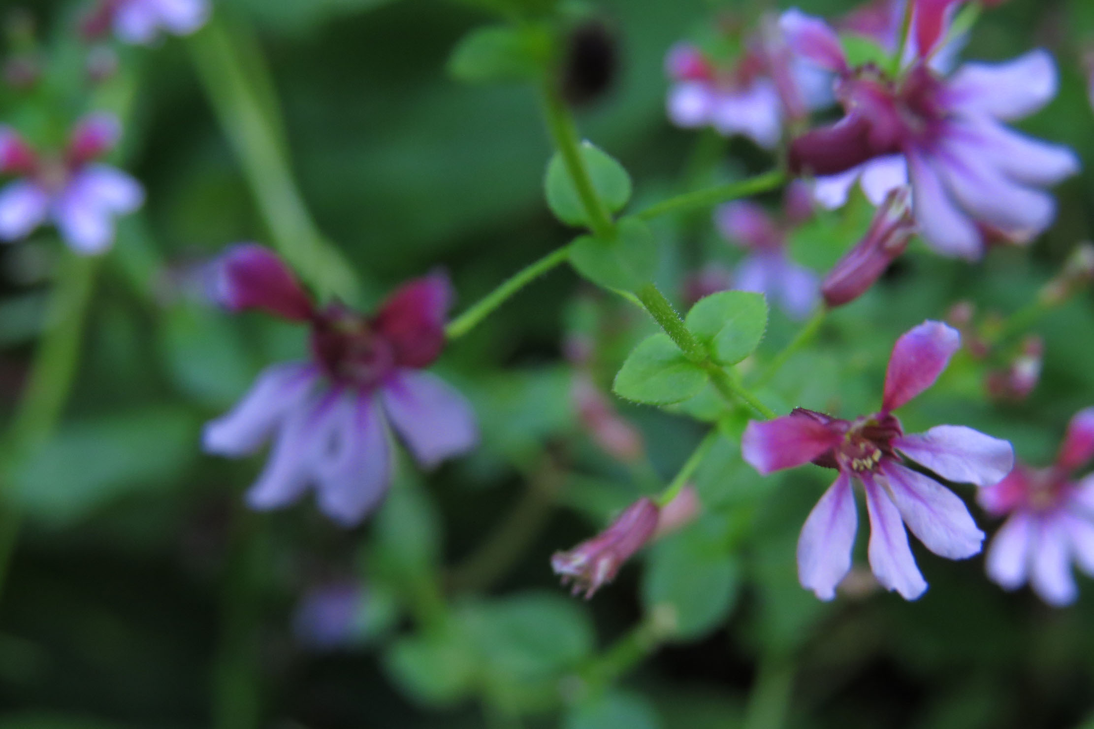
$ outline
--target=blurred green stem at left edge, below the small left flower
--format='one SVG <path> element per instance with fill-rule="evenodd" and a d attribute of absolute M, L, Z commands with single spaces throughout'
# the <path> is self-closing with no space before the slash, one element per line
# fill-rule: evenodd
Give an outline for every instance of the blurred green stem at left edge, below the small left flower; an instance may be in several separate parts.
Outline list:
<path fill-rule="evenodd" d="M 3 478 L 0 490 L 10 488 L 14 467 L 49 438 L 68 402 L 97 267 L 98 258 L 68 251 L 62 254 L 30 380 L 0 445 Z M 0 591 L 11 565 L 21 521 L 22 516 L 11 501 L 0 504 Z"/>

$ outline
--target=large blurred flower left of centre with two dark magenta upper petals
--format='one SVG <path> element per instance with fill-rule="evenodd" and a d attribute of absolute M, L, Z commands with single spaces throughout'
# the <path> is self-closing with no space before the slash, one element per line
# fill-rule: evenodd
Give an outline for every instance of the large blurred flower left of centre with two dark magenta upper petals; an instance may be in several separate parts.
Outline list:
<path fill-rule="evenodd" d="M 311 327 L 309 361 L 270 367 L 232 412 L 205 428 L 205 449 L 233 458 L 272 440 L 246 496 L 252 508 L 284 507 L 311 486 L 319 509 L 350 526 L 387 491 L 388 428 L 427 468 L 476 444 L 467 401 L 421 371 L 444 347 L 451 299 L 444 276 L 411 280 L 363 316 L 337 303 L 314 306 L 276 255 L 241 244 L 222 257 L 214 293 L 235 311 L 260 309 Z"/>

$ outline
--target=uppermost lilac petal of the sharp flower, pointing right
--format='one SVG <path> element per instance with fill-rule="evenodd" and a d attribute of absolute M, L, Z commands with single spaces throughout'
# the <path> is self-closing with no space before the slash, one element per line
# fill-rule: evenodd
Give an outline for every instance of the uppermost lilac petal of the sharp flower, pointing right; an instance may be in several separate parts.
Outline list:
<path fill-rule="evenodd" d="M 1008 441 L 965 426 L 936 426 L 893 444 L 916 463 L 959 484 L 992 486 L 1014 467 L 1014 449 Z"/>

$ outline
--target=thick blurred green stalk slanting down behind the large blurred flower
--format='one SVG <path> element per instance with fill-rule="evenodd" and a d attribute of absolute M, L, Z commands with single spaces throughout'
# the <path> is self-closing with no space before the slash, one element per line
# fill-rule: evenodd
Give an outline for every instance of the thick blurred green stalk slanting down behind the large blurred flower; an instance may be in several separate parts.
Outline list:
<path fill-rule="evenodd" d="M 256 47 L 249 56 L 219 15 L 187 40 L 206 94 L 235 150 L 275 247 L 323 298 L 356 302 L 360 281 L 319 232 L 290 171 L 274 84 Z"/>

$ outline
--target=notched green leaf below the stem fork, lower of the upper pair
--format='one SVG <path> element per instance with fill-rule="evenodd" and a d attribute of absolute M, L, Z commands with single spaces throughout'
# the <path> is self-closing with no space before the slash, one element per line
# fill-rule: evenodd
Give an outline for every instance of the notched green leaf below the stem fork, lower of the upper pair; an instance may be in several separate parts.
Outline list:
<path fill-rule="evenodd" d="M 657 244 L 649 225 L 633 218 L 616 224 L 615 238 L 582 235 L 570 247 L 570 263 L 597 286 L 635 291 L 650 282 L 657 268 Z"/>

